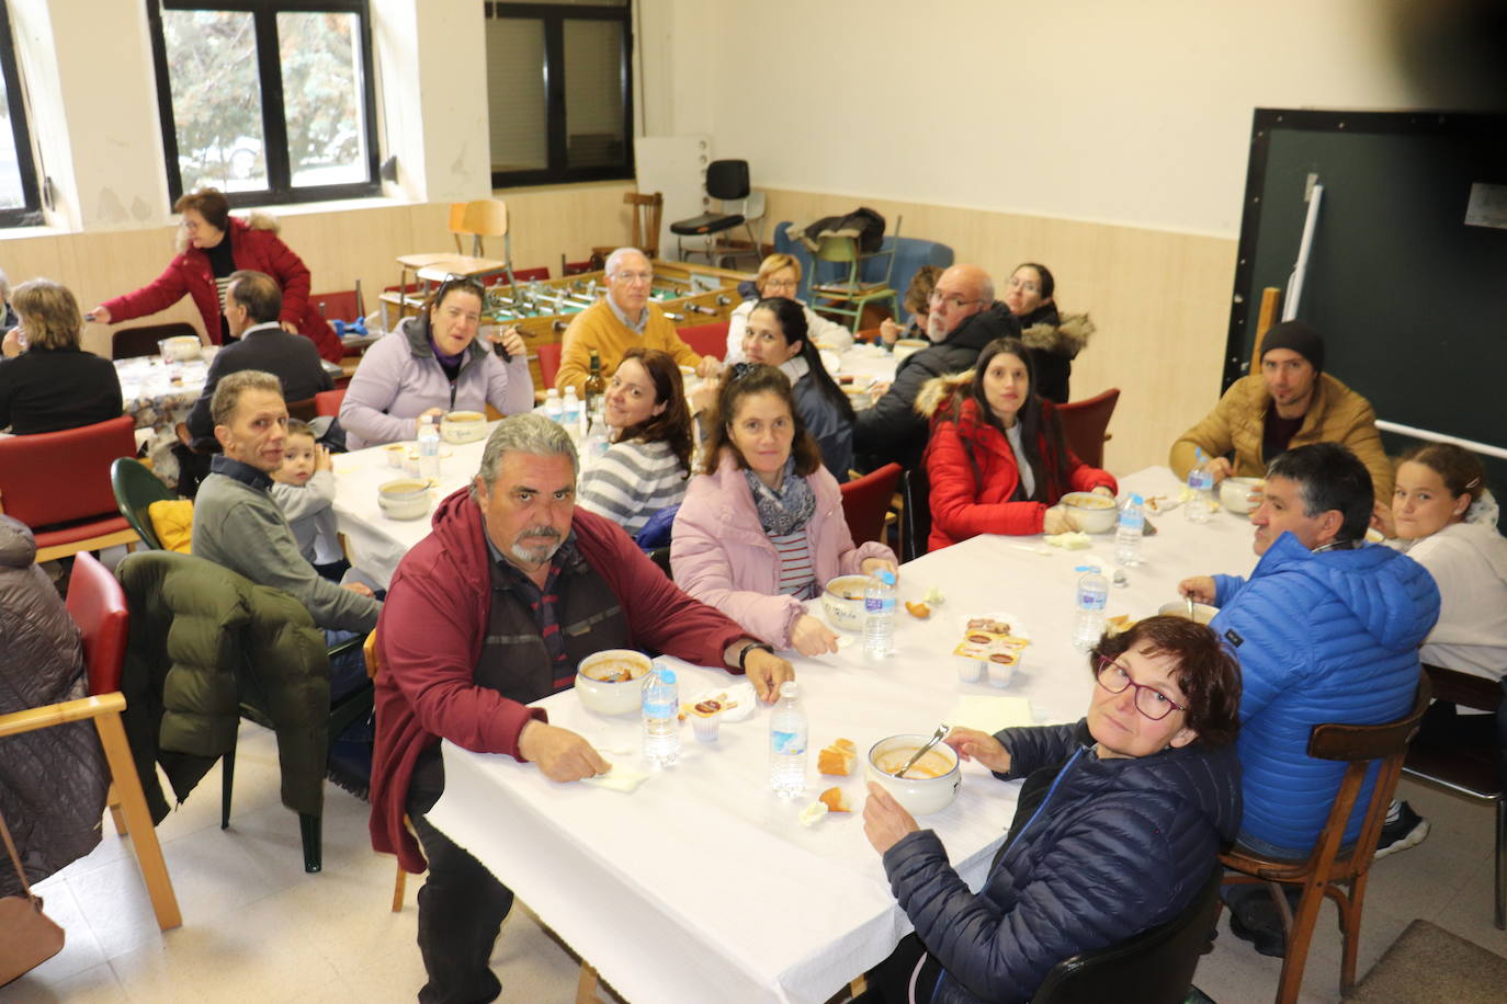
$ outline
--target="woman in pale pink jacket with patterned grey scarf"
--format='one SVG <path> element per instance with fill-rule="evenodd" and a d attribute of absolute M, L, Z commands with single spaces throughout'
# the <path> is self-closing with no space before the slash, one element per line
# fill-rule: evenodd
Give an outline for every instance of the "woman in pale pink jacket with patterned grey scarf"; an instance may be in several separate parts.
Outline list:
<path fill-rule="evenodd" d="M 723 379 L 704 473 L 675 516 L 671 569 L 695 599 L 800 655 L 838 643 L 803 601 L 838 575 L 895 572 L 885 545 L 853 546 L 836 479 L 778 369 L 738 364 Z"/>

